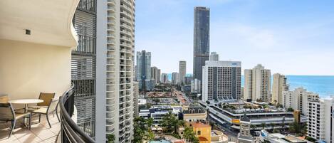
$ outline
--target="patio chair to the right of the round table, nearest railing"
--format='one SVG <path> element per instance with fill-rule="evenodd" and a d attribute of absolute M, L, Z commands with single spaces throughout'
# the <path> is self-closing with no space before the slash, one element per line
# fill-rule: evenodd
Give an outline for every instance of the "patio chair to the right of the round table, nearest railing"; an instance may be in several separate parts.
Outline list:
<path fill-rule="evenodd" d="M 38 122 L 41 122 L 41 115 L 46 115 L 46 120 L 48 121 L 48 126 L 50 126 L 51 128 L 51 124 L 50 124 L 50 121 L 49 121 L 49 117 L 48 115 L 50 113 L 53 114 L 53 112 L 57 112 L 57 106 L 58 106 L 58 102 L 59 100 L 49 100 L 50 102 L 50 105 L 48 105 L 48 107 L 41 107 L 39 108 L 38 110 L 33 110 L 31 111 L 31 114 L 38 114 L 39 115 L 39 119 L 38 119 Z M 55 115 L 53 114 L 53 117 Z M 58 121 L 59 121 L 59 117 L 57 115 L 57 118 L 58 118 Z"/>

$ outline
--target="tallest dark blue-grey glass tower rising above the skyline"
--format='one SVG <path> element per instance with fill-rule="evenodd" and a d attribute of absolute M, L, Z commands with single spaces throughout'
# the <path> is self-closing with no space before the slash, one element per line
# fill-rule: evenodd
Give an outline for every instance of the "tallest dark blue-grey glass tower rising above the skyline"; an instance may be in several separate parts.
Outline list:
<path fill-rule="evenodd" d="M 207 7 L 194 8 L 194 79 L 202 81 L 202 66 L 209 60 L 209 31 L 210 9 Z"/>

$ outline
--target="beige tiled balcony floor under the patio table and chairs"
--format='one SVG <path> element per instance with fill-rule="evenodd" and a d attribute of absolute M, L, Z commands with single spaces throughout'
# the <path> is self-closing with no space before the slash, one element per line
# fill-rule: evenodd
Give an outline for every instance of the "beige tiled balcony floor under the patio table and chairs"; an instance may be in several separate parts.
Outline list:
<path fill-rule="evenodd" d="M 46 121 L 46 115 L 41 115 L 41 123 L 38 123 L 38 115 L 34 115 L 31 121 L 31 130 L 24 127 L 23 120 L 20 119 L 16 122 L 16 128 L 10 138 L 8 138 L 8 135 L 11 131 L 11 122 L 0 121 L 0 143 L 56 142 L 57 134 L 61 129 L 61 123 L 58 122 L 56 116 L 53 117 L 51 114 L 49 117 L 51 128 Z"/>

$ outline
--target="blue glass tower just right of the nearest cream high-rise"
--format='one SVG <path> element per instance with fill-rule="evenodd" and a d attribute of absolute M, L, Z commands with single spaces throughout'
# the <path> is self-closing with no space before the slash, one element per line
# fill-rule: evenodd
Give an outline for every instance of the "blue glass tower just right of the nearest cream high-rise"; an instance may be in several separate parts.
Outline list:
<path fill-rule="evenodd" d="M 137 81 L 140 90 L 152 90 L 154 80 L 151 78 L 151 53 L 137 52 Z"/>

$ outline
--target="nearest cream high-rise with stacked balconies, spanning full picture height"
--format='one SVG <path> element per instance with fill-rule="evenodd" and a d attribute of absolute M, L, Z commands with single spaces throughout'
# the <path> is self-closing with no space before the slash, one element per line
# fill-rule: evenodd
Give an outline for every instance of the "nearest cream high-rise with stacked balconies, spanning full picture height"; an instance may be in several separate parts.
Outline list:
<path fill-rule="evenodd" d="M 85 3 L 89 5 L 90 1 Z M 97 1 L 95 7 L 98 8 L 95 142 L 105 142 L 107 134 L 114 134 L 115 142 L 131 142 L 135 0 Z"/>

